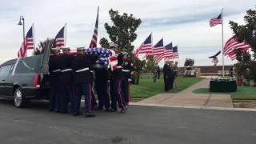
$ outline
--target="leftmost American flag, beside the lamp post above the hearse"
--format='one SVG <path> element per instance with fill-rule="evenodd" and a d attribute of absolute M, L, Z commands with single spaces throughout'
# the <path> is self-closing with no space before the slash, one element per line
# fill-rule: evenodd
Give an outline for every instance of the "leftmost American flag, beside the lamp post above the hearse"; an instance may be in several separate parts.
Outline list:
<path fill-rule="evenodd" d="M 18 50 L 18 58 L 26 57 L 26 52 L 30 49 L 34 49 L 33 26 L 31 26 L 30 30 L 26 33 L 22 46 Z"/>

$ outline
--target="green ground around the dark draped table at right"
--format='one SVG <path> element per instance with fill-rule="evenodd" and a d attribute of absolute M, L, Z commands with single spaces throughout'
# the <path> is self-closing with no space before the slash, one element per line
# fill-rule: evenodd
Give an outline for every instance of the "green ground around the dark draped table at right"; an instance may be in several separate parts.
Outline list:
<path fill-rule="evenodd" d="M 238 86 L 237 92 L 211 93 L 209 88 L 201 88 L 193 91 L 194 94 L 230 94 L 233 100 L 256 100 L 256 88 L 253 86 Z"/>

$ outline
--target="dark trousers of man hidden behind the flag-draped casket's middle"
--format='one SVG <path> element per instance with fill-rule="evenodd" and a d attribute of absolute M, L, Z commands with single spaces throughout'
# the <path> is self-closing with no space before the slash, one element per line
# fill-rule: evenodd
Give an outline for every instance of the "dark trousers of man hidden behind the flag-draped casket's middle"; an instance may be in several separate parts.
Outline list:
<path fill-rule="evenodd" d="M 98 94 L 98 107 L 102 108 L 105 106 L 106 109 L 110 108 L 110 96 L 108 94 L 107 80 L 95 80 L 95 88 Z"/>

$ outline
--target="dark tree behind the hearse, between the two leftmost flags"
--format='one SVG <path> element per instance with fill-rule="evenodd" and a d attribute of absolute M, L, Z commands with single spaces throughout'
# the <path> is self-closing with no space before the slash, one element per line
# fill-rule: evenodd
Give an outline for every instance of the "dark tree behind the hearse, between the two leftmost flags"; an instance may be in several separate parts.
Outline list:
<path fill-rule="evenodd" d="M 35 48 L 35 50 L 33 51 L 33 55 L 39 55 L 39 54 L 43 54 L 43 52 L 45 51 L 46 48 L 46 44 L 50 43 L 50 48 L 55 47 L 54 43 L 55 43 L 55 38 L 46 38 L 44 41 L 39 42 L 38 47 Z M 51 50 L 50 50 L 51 53 Z"/>

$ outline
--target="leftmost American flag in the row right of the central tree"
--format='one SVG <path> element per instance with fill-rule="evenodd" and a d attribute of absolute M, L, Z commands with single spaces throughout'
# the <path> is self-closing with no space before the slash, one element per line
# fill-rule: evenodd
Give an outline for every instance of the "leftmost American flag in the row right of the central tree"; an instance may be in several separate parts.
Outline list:
<path fill-rule="evenodd" d="M 152 34 L 150 34 L 146 40 L 134 51 L 134 56 L 138 58 L 138 54 L 152 53 Z"/>

